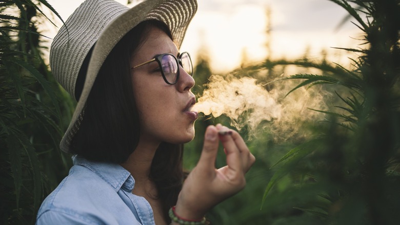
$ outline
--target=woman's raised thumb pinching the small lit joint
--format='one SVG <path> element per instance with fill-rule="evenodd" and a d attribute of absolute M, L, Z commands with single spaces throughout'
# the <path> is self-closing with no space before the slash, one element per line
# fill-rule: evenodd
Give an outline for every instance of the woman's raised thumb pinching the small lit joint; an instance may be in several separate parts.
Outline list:
<path fill-rule="evenodd" d="M 215 158 L 218 151 L 218 132 L 215 126 L 210 125 L 204 135 L 204 145 L 202 155 L 197 163 L 197 167 L 215 168 Z"/>

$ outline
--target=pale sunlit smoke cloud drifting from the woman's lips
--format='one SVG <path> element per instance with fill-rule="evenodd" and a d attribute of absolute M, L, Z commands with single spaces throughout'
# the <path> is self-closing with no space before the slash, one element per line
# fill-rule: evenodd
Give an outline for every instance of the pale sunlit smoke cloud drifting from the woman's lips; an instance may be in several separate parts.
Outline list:
<path fill-rule="evenodd" d="M 326 109 L 319 89 L 299 88 L 286 96 L 295 87 L 291 80 L 273 82 L 267 90 L 254 78 L 213 75 L 206 86 L 194 109 L 213 117 L 226 115 L 236 129 L 246 126 L 250 139 L 262 131 L 275 140 L 307 136 L 306 129 L 299 129 L 324 116 L 309 108 Z"/>

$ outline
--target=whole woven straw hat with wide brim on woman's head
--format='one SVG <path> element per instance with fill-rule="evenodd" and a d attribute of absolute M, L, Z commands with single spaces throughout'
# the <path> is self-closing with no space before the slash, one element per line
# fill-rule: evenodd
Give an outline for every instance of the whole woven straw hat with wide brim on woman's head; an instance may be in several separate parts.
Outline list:
<path fill-rule="evenodd" d="M 51 44 L 50 67 L 73 97 L 79 69 L 94 48 L 81 97 L 60 143 L 62 151 L 69 152 L 97 73 L 118 41 L 140 22 L 158 20 L 169 27 L 179 48 L 196 10 L 196 0 L 147 0 L 131 9 L 113 0 L 86 0 L 72 13 Z"/>

